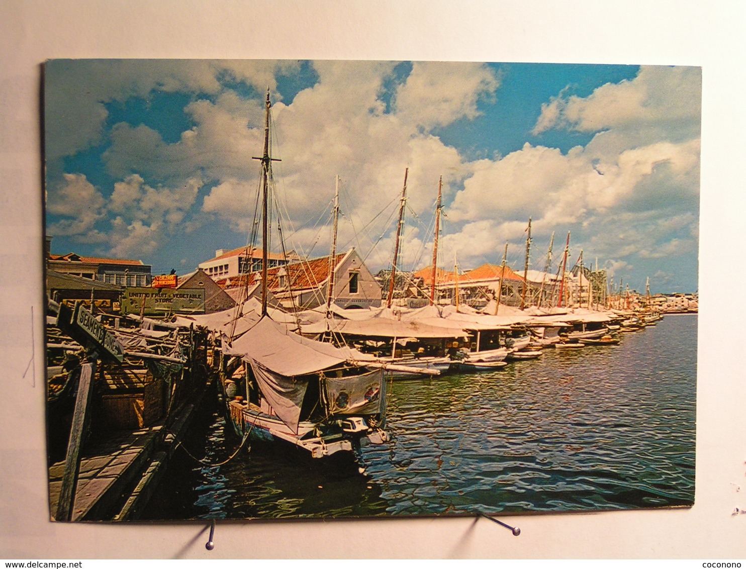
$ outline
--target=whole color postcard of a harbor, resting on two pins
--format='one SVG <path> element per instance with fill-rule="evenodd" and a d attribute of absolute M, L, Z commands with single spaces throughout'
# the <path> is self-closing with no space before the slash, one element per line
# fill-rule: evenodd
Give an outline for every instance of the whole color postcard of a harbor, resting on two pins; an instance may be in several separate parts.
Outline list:
<path fill-rule="evenodd" d="M 692 506 L 701 89 L 48 61 L 51 518 Z"/>

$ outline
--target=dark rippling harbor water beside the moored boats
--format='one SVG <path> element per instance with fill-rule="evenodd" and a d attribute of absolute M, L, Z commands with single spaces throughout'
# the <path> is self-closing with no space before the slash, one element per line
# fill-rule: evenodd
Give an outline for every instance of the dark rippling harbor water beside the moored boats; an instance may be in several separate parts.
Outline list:
<path fill-rule="evenodd" d="M 697 316 L 668 315 L 619 345 L 548 348 L 500 371 L 388 383 L 390 441 L 361 449 L 361 474 L 256 444 L 216 465 L 239 441 L 215 406 L 177 452 L 144 518 L 690 505 L 696 356 Z"/>

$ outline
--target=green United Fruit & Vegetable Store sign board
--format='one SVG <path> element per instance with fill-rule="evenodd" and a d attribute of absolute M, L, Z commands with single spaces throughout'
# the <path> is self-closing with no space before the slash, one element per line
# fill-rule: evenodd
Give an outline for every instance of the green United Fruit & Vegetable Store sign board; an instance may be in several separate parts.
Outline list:
<path fill-rule="evenodd" d="M 122 295 L 122 314 L 204 314 L 204 289 L 134 287 Z"/>

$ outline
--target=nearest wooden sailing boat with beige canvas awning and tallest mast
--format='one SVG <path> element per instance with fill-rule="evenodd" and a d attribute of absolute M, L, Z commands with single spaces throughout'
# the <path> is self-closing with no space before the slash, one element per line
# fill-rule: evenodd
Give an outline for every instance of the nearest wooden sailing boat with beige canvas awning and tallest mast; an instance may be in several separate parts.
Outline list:
<path fill-rule="evenodd" d="M 257 158 L 262 164 L 261 312 L 248 316 L 254 322 L 241 336 L 224 339 L 220 384 L 231 425 L 244 440 L 285 441 L 313 458 L 322 458 L 354 451 L 363 441 L 380 444 L 387 440 L 383 430 L 386 383 L 383 366 L 369 356 L 304 338 L 269 318 L 271 106 L 268 89 L 264 152 Z"/>

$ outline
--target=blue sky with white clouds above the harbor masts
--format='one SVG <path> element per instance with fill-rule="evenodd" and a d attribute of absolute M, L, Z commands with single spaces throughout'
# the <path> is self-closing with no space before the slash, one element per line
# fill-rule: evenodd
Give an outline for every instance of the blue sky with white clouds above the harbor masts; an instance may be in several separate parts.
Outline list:
<path fill-rule="evenodd" d="M 390 263 L 409 169 L 402 267 L 532 268 L 571 232 L 572 260 L 630 287 L 693 292 L 698 273 L 700 69 L 529 63 L 53 60 L 45 71 L 52 251 L 192 271 L 245 245 L 263 97 L 286 248 L 327 254 L 334 177 L 340 245 Z"/>

